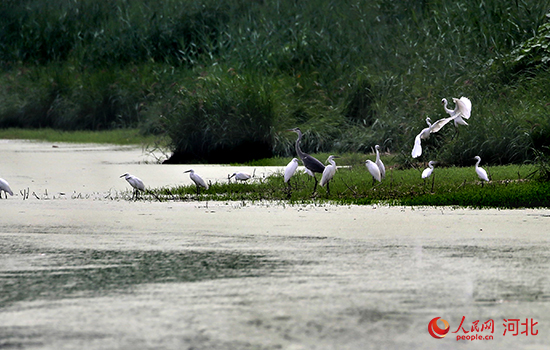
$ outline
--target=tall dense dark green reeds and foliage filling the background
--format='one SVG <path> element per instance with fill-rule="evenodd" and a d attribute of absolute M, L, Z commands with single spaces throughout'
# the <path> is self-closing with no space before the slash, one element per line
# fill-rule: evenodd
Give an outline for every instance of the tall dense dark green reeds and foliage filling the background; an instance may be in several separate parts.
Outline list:
<path fill-rule="evenodd" d="M 0 127 L 139 127 L 176 161 L 368 152 L 410 161 L 441 98 L 467 127 L 421 160 L 521 163 L 550 145 L 548 0 L 2 1 Z"/>

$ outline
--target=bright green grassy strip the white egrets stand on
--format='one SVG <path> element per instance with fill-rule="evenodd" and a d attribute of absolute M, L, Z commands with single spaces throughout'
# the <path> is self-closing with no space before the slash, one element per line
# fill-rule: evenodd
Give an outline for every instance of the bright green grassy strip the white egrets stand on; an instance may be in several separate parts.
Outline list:
<path fill-rule="evenodd" d="M 345 163 L 339 163 L 340 165 Z M 473 165 L 434 170 L 435 178 L 421 179 L 423 169 L 388 168 L 386 178 L 373 185 L 372 177 L 360 164 L 340 168 L 330 183 L 330 194 L 324 187 L 312 193 L 313 179 L 303 173 L 292 179 L 292 188 L 283 182 L 282 174 L 250 183 L 213 183 L 207 191 L 196 194 L 195 186 L 153 189 L 157 199 L 282 201 L 299 203 L 464 206 L 472 208 L 550 207 L 550 183 L 533 179 L 533 165 L 484 167 L 491 178 L 482 183 Z M 434 186 L 432 191 L 432 180 Z"/>

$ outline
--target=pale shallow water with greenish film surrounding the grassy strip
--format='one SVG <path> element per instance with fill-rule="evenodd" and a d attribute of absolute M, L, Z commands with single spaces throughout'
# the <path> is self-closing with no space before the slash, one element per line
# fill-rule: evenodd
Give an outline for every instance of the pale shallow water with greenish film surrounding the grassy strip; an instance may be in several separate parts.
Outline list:
<path fill-rule="evenodd" d="M 549 210 L 72 199 L 53 194 L 124 190 L 126 171 L 153 187 L 185 183 L 187 166 L 143 164 L 126 147 L 6 144 L 0 177 L 52 195 L 0 201 L 0 348 L 550 341 Z M 231 172 L 211 168 L 223 169 L 212 180 Z M 491 334 L 471 327 L 494 320 L 493 339 L 457 341 L 463 316 L 468 334 Z M 450 324 L 444 339 L 428 333 L 434 317 Z M 504 319 L 533 319 L 538 334 L 503 335 Z"/>

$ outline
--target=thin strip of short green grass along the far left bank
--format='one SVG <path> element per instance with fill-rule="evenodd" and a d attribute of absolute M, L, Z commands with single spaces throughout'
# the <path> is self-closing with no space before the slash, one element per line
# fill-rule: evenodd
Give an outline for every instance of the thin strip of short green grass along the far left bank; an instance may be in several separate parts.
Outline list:
<path fill-rule="evenodd" d="M 157 138 L 143 136 L 137 129 L 114 129 L 104 131 L 60 131 L 46 129 L 0 129 L 0 139 L 38 140 L 72 143 L 109 143 L 115 145 L 154 144 Z"/>

